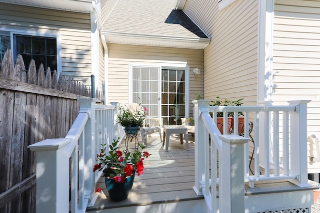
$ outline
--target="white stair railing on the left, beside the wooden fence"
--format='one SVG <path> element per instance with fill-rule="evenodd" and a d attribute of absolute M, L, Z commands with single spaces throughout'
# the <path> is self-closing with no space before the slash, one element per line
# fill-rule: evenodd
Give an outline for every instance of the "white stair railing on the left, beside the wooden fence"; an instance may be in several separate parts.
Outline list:
<path fill-rule="evenodd" d="M 101 176 L 93 172 L 100 144 L 123 137 L 117 132 L 115 106 L 96 105 L 93 98 L 77 100 L 79 113 L 65 138 L 28 146 L 36 152 L 37 213 L 84 213 L 92 206 L 97 198 L 95 183 Z"/>

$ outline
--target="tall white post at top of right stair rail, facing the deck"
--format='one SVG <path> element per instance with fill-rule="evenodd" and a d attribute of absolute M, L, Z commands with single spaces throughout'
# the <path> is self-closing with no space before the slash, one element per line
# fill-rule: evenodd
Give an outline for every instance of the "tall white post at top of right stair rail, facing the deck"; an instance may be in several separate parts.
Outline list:
<path fill-rule="evenodd" d="M 204 124 L 200 118 L 200 108 L 207 108 L 209 100 L 195 100 L 194 104 L 194 186 L 193 190 L 198 196 L 202 196 L 200 182 L 205 180 L 205 149 L 208 149 L 208 141 L 204 141 Z"/>

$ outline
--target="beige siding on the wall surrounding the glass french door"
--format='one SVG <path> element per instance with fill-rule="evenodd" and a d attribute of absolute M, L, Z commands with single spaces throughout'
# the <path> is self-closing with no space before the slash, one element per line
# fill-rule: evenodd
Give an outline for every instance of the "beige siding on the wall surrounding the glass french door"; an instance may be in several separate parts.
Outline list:
<path fill-rule="evenodd" d="M 190 101 L 202 93 L 202 50 L 108 43 L 108 101 L 128 102 L 128 65 L 190 66 Z M 200 69 L 194 75 L 194 67 Z M 193 104 L 190 105 L 192 109 Z"/>

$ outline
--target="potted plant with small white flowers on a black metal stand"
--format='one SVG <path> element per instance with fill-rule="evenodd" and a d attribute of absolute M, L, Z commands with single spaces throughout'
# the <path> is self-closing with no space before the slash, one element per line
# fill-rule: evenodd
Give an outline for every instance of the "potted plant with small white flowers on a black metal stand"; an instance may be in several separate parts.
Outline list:
<path fill-rule="evenodd" d="M 138 105 L 138 107 L 135 109 L 132 109 L 126 105 L 118 105 L 118 123 L 124 127 L 124 131 L 127 134 L 137 133 L 139 128 L 143 126 L 146 115 L 146 108 L 141 107 L 140 105 Z"/>

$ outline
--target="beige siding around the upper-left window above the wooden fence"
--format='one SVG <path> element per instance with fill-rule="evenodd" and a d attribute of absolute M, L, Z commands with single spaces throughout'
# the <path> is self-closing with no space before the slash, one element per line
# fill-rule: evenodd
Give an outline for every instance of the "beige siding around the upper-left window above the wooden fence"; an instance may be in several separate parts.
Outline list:
<path fill-rule="evenodd" d="M 62 74 L 90 85 L 90 14 L 0 3 L 0 30 L 61 35 Z"/>

